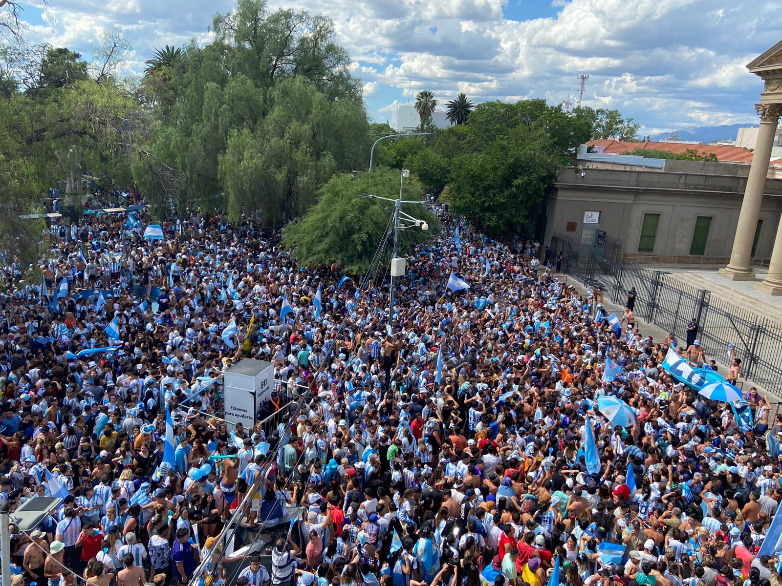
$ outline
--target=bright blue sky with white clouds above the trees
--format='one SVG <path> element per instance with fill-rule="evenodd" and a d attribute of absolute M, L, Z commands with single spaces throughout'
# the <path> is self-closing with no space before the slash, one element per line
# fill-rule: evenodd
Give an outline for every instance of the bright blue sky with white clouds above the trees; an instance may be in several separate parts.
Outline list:
<path fill-rule="evenodd" d="M 208 41 L 232 0 L 40 0 L 23 14 L 32 41 L 90 55 L 117 26 L 136 70 L 153 48 Z M 269 0 L 327 14 L 364 82 L 371 116 L 386 121 L 423 89 L 439 102 L 577 97 L 619 109 L 644 132 L 752 123 L 762 82 L 745 65 L 780 41 L 774 0 Z"/>

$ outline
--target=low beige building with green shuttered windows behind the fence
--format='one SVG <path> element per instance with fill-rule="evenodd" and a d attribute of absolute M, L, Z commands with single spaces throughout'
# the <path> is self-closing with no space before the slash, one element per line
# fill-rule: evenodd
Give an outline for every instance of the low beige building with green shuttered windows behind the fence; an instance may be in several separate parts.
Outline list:
<path fill-rule="evenodd" d="M 588 164 L 580 159 L 579 163 Z M 619 241 L 626 256 L 726 259 L 749 170 L 741 164 L 678 160 L 666 160 L 662 170 L 589 166 L 563 170 L 543 202 L 543 241 L 561 234 L 591 245 L 604 232 Z M 768 258 L 773 250 L 782 214 L 782 180 L 769 179 L 765 194 L 750 243 L 749 252 L 756 258 Z"/>

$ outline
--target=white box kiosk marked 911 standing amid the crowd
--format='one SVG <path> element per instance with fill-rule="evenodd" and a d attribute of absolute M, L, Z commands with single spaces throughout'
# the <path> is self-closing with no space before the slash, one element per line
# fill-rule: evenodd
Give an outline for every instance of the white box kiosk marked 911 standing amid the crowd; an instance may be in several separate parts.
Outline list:
<path fill-rule="evenodd" d="M 274 365 L 263 360 L 242 359 L 225 371 L 225 420 L 249 429 L 259 420 L 264 400 L 274 391 Z"/>

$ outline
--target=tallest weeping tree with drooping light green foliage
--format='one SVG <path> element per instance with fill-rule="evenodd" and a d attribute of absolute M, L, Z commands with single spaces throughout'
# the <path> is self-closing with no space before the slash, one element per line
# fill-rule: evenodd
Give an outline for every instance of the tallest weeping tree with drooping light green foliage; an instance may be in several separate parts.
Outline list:
<path fill-rule="evenodd" d="M 371 140 L 361 84 L 325 16 L 238 0 L 215 40 L 147 62 L 156 118 L 135 178 L 153 204 L 243 206 L 278 226 L 314 202 L 332 173 L 365 168 Z"/>

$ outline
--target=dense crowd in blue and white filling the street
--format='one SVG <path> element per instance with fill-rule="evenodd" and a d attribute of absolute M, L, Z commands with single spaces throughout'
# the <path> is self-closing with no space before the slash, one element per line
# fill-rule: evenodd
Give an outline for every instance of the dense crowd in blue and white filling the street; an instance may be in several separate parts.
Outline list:
<path fill-rule="evenodd" d="M 391 316 L 387 284 L 302 266 L 251 217 L 52 225 L 41 284 L 2 294 L 0 503 L 63 498 L 12 527 L 14 581 L 209 586 L 240 562 L 241 586 L 778 586 L 782 417 L 753 391 L 740 426 L 662 368 L 676 338 L 618 333 L 555 277 L 561 255 L 455 241 L 436 212 Z M 246 357 L 274 363 L 264 413 L 295 402 L 279 429 L 223 418 Z M 271 568 L 223 550 L 242 503 L 248 529 L 293 517 Z"/>

